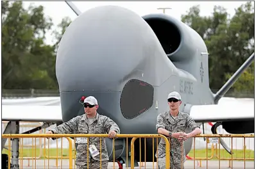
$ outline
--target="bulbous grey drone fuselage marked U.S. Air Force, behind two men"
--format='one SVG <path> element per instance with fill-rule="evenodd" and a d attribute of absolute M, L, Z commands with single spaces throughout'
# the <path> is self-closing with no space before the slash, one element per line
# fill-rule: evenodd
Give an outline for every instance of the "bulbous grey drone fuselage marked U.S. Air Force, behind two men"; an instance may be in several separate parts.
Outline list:
<path fill-rule="evenodd" d="M 80 98 L 93 95 L 98 113 L 125 134 L 157 133 L 157 115 L 169 110 L 169 92 L 182 96 L 181 111 L 214 104 L 200 35 L 171 16 L 140 17 L 118 6 L 93 8 L 69 25 L 58 47 L 56 77 L 64 122 L 85 113 Z M 185 142 L 186 154 L 191 145 Z"/>

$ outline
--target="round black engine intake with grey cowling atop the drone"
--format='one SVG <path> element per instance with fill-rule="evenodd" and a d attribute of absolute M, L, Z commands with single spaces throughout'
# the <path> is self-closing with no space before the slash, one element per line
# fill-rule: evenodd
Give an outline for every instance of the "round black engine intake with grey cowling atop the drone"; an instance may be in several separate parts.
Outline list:
<path fill-rule="evenodd" d="M 169 15 L 150 14 L 142 17 L 153 29 L 164 52 L 171 61 L 191 60 L 198 49 L 206 48 L 194 29 Z"/>

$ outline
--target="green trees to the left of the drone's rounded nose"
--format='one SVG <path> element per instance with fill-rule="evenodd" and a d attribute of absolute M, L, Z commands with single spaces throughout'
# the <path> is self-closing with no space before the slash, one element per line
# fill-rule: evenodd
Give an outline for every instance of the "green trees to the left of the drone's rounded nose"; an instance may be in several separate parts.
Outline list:
<path fill-rule="evenodd" d="M 54 48 L 44 44 L 53 23 L 43 6 L 25 10 L 22 1 L 1 3 L 2 88 L 57 88 Z"/>

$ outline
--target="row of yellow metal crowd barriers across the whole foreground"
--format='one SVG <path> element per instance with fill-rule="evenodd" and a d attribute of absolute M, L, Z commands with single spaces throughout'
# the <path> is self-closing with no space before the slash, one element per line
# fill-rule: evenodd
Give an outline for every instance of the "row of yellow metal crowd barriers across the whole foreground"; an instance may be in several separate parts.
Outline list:
<path fill-rule="evenodd" d="M 107 134 L 2 134 L 2 138 L 8 138 L 8 167 L 10 168 L 10 160 L 11 160 L 11 140 L 10 138 L 21 138 L 21 149 L 20 149 L 20 154 L 21 157 L 19 157 L 20 161 L 20 166 L 21 168 L 23 168 L 24 166 L 24 159 L 28 159 L 28 160 L 32 160 L 32 168 L 37 168 L 37 161 L 38 160 L 44 160 L 44 168 L 46 168 L 46 160 L 47 160 L 47 167 L 50 168 L 50 159 L 55 159 L 55 168 L 58 168 L 58 161 L 61 160 L 61 166 L 60 168 L 63 167 L 63 163 L 65 163 L 65 166 L 69 166 L 69 168 L 76 168 L 76 165 L 73 165 L 73 159 L 76 158 L 76 150 L 74 148 L 74 145 L 72 143 L 72 140 L 70 137 L 72 138 L 78 138 L 78 137 L 85 137 L 85 138 L 92 138 L 92 137 L 98 137 L 100 138 L 100 144 L 101 145 L 101 138 L 105 138 L 107 137 Z M 56 152 L 51 151 L 50 147 L 49 147 L 49 141 L 48 144 L 46 146 L 46 138 L 51 137 L 51 138 L 66 138 L 69 142 L 69 149 L 68 150 L 64 150 L 63 146 L 61 145 L 60 148 L 58 147 L 58 142 L 56 142 Z M 157 138 L 157 145 L 158 145 L 158 138 L 163 138 L 164 141 L 166 141 L 166 168 L 169 167 L 170 164 L 170 154 L 169 154 L 169 149 L 171 149 L 169 143 L 170 140 L 167 139 L 165 136 L 162 136 L 160 134 L 117 134 L 118 138 L 126 138 L 126 147 L 128 147 L 128 138 L 132 138 L 131 141 L 131 149 L 130 149 L 130 157 L 131 157 L 131 168 L 134 168 L 134 157 L 135 157 L 135 140 L 137 140 L 137 138 L 139 138 L 139 162 L 140 165 L 142 166 L 142 161 L 141 161 L 141 138 L 152 138 L 154 141 L 154 138 Z M 23 157 L 24 156 L 24 139 L 25 138 L 31 138 L 32 139 L 32 147 L 30 149 L 30 156 L 31 157 Z M 37 149 L 37 143 L 35 141 L 35 138 L 44 138 L 44 156 L 43 157 L 38 157 L 38 149 Z M 212 166 L 212 163 L 210 163 L 209 165 L 209 160 L 214 160 L 214 157 L 216 159 L 218 159 L 218 166 L 216 166 L 216 168 L 221 168 L 221 163 L 220 161 L 222 160 L 226 160 L 229 161 L 229 166 L 230 168 L 234 167 L 234 161 L 243 161 L 243 168 L 250 168 L 250 166 L 246 166 L 246 161 L 253 161 L 254 160 L 254 151 L 250 152 L 248 154 L 247 150 L 248 147 L 245 146 L 246 144 L 246 138 L 254 138 L 254 134 L 200 134 L 194 138 L 192 138 L 194 140 L 194 142 L 196 141 L 196 138 L 206 138 L 206 147 L 207 149 L 204 150 L 203 155 L 200 153 L 196 153 L 196 144 L 194 144 L 192 146 L 190 155 L 191 157 L 188 159 L 188 161 L 193 161 L 193 166 L 194 168 L 196 168 L 196 161 L 200 161 L 200 164 L 198 164 L 199 167 L 203 167 L 203 168 L 208 168 L 209 166 Z M 223 155 L 223 151 L 221 151 L 221 144 L 219 139 L 220 138 L 230 138 L 231 141 L 231 151 L 233 152 L 233 154 L 231 154 L 230 156 L 227 157 L 227 155 L 225 155 L 224 157 L 221 157 L 221 154 Z M 243 140 L 243 150 L 241 150 L 241 152 L 237 152 L 237 150 L 234 149 L 233 143 L 234 143 L 234 139 L 235 138 L 241 138 L 241 140 Z M 35 141 L 35 143 L 33 143 L 33 141 Z M 115 140 L 112 141 L 113 144 L 113 168 L 116 167 L 115 164 Z M 210 146 L 209 146 L 210 144 Z M 155 156 L 154 154 L 154 143 L 153 145 L 153 154 L 152 156 Z M 146 140 L 144 143 L 145 146 L 145 156 L 146 156 Z M 40 147 L 40 146 L 39 146 Z M 47 148 L 46 148 L 47 147 Z M 87 141 L 87 154 L 89 154 L 89 141 Z M 59 150 L 61 149 L 61 150 Z M 157 149 L 157 147 L 156 147 Z M 47 153 L 46 153 L 47 150 Z M 100 150 L 100 154 L 101 154 L 101 147 L 99 148 Z M 58 156 L 58 152 L 60 152 L 60 156 Z M 68 152 L 68 153 L 67 153 Z M 182 150 L 183 152 L 183 150 Z M 65 155 L 65 153 L 67 153 Z M 52 154 L 50 156 L 50 154 Z M 128 149 L 126 149 L 126 161 L 128 161 Z M 237 157 L 238 154 L 238 157 Z M 64 156 L 65 155 L 65 156 Z M 210 155 L 210 156 L 209 156 Z M 204 156 L 204 157 L 202 157 Z M 183 156 L 182 156 L 183 157 Z M 67 159 L 64 161 L 64 159 Z M 146 159 L 146 157 L 144 158 Z M 68 162 L 67 162 L 68 161 Z M 89 161 L 89 156 L 87 156 L 87 161 Z M 201 162 L 205 161 L 206 164 L 202 166 Z M 38 162 L 39 163 L 39 162 Z M 52 161 L 51 161 L 52 163 Z M 143 162 L 144 163 L 144 162 Z M 158 168 L 158 161 L 156 161 L 157 165 L 156 168 Z M 241 163 L 241 162 L 240 162 Z M 87 163 L 89 164 L 89 163 Z M 241 165 L 241 164 L 240 164 Z M 51 168 L 53 165 L 51 165 Z M 144 168 L 146 168 L 146 165 L 144 163 Z M 153 161 L 153 167 L 155 166 L 155 162 Z M 206 167 L 205 167 L 206 166 Z M 41 166 L 42 167 L 42 166 Z M 253 166 L 254 167 L 254 164 Z M 27 166 L 25 166 L 25 168 L 27 168 Z M 141 168 L 141 167 L 140 167 Z M 242 168 L 242 167 L 241 167 Z"/>

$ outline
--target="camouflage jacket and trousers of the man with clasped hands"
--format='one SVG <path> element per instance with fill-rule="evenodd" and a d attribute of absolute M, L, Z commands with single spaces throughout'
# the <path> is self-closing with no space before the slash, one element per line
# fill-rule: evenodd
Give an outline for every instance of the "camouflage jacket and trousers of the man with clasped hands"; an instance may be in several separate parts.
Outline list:
<path fill-rule="evenodd" d="M 182 113 L 179 111 L 178 117 L 173 118 L 171 117 L 169 111 L 166 111 L 164 113 L 160 113 L 157 116 L 157 125 L 156 129 L 158 130 L 159 127 L 162 127 L 163 129 L 166 129 L 167 131 L 170 131 L 172 133 L 178 133 L 178 132 L 184 132 L 187 127 L 191 129 L 192 131 L 196 129 L 196 127 L 199 127 L 199 125 L 192 120 L 192 118 L 187 115 L 186 113 Z M 185 149 L 184 149 L 184 142 L 183 147 L 182 143 L 180 143 L 176 138 L 171 138 L 170 143 L 170 160 L 173 164 L 180 164 L 182 162 L 182 148 L 183 148 L 183 162 L 185 162 Z M 158 151 L 156 154 L 156 157 L 164 157 L 166 156 L 166 141 L 164 141 L 162 138 L 158 145 Z"/>

